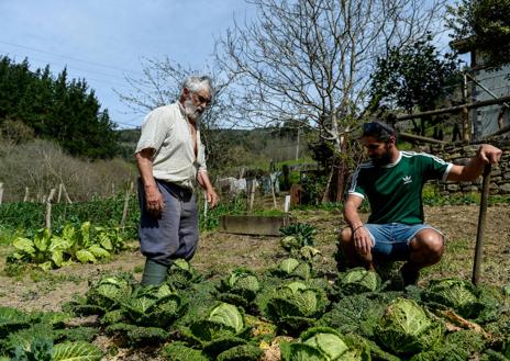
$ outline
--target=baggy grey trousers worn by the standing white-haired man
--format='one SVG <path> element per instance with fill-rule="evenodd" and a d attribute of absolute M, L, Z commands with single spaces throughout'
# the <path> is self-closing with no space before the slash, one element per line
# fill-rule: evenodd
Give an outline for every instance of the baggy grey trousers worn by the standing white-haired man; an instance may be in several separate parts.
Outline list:
<path fill-rule="evenodd" d="M 184 188 L 156 180 L 165 208 L 158 217 L 146 210 L 145 192 L 138 179 L 140 227 L 142 255 L 157 263 L 169 264 L 173 259 L 190 260 L 198 246 L 197 198 Z"/>

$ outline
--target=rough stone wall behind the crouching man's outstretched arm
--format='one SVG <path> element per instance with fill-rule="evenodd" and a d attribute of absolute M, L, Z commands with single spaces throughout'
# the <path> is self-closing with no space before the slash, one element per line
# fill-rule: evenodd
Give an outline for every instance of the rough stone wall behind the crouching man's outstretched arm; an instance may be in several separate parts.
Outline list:
<path fill-rule="evenodd" d="M 510 143 L 490 142 L 491 145 L 503 150 L 501 161 L 497 166 L 492 166 L 490 173 L 490 194 L 510 194 Z M 470 145 L 433 145 L 429 149 L 424 149 L 446 161 L 456 165 L 465 165 L 475 156 L 480 144 Z M 481 191 L 481 177 L 475 182 L 439 182 L 441 194 L 461 194 Z"/>

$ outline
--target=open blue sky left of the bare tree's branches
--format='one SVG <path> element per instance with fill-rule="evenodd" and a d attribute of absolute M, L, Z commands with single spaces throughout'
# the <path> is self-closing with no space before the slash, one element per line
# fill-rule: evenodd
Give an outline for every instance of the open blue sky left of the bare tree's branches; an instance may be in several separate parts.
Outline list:
<path fill-rule="evenodd" d="M 25 57 L 33 70 L 85 79 L 119 128 L 140 126 L 144 114 L 123 104 L 126 77 L 143 78 L 144 59 L 168 57 L 204 71 L 214 42 L 253 16 L 244 0 L 0 0 L 0 55 Z"/>

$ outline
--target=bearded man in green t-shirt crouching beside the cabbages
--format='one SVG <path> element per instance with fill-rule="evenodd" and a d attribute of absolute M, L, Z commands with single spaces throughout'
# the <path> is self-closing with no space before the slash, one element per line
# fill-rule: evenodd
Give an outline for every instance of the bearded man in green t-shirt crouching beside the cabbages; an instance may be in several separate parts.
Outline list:
<path fill-rule="evenodd" d="M 404 285 L 418 281 L 420 270 L 441 260 L 443 235 L 424 224 L 422 188 L 426 180 L 473 181 L 486 163 L 496 163 L 501 150 L 481 145 L 466 166 L 437 157 L 397 148 L 397 134 L 385 123 L 364 124 L 362 143 L 370 161 L 353 174 L 344 218 L 350 225 L 341 234 L 351 266 L 374 268 L 374 261 L 407 261 L 400 270 Z M 367 198 L 370 216 L 364 224 L 358 207 Z"/>

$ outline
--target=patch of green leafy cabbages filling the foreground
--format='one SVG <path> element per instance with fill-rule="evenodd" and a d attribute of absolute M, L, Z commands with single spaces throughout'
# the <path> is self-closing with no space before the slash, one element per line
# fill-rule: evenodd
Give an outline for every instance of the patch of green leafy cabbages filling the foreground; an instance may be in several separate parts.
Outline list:
<path fill-rule="evenodd" d="M 260 360 L 270 352 L 281 360 L 510 357 L 509 290 L 446 279 L 397 291 L 364 269 L 328 281 L 313 268 L 317 250 L 307 246 L 299 255 L 264 273 L 236 269 L 223 279 L 177 260 L 157 287 L 141 287 L 131 274 L 103 277 L 53 316 L 95 315 L 93 330 L 59 329 L 56 321 L 41 330 L 16 323 L 24 316 L 12 311 L 0 315 L 0 352 L 14 358 L 43 343 L 84 348 L 106 334 L 126 347 L 153 345 L 167 360 Z"/>

